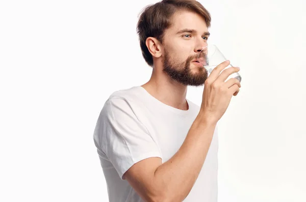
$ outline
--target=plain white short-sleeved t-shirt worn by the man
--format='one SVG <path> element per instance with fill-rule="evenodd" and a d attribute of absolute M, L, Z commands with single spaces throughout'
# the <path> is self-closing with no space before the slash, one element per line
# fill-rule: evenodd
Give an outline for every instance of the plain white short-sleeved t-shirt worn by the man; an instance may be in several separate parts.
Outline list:
<path fill-rule="evenodd" d="M 187 102 L 188 110 L 171 107 L 142 86 L 116 91 L 109 97 L 93 138 L 110 202 L 143 201 L 122 176 L 143 159 L 160 157 L 164 163 L 180 149 L 200 109 L 190 100 Z M 216 127 L 205 163 L 184 202 L 217 201 L 217 135 Z"/>

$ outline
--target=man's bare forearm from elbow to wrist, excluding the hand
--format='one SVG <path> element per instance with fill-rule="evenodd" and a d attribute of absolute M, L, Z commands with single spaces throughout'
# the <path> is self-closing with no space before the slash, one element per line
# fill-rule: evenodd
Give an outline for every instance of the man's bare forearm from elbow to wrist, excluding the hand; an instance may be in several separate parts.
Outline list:
<path fill-rule="evenodd" d="M 155 171 L 155 184 L 165 201 L 182 201 L 189 194 L 206 159 L 217 122 L 198 114 L 183 145 Z"/>

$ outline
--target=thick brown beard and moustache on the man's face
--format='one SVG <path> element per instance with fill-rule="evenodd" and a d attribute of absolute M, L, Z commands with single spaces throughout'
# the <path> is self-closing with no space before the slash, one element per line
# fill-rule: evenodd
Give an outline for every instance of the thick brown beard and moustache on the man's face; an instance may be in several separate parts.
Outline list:
<path fill-rule="evenodd" d="M 189 56 L 185 62 L 173 62 L 170 60 L 169 53 L 165 51 L 163 71 L 174 81 L 183 85 L 200 86 L 207 79 L 208 73 L 204 67 L 196 66 L 196 72 L 192 72 L 190 65 L 195 56 Z"/>

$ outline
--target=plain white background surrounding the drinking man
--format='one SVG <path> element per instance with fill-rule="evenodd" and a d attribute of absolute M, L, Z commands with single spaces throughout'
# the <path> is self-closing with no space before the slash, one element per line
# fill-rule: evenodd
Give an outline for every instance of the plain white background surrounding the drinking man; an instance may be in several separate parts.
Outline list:
<path fill-rule="evenodd" d="M 150 77 L 136 23 L 156 2 L 0 2 L 0 201 L 108 200 L 93 130 L 112 92 Z M 219 121 L 219 202 L 306 201 L 305 1 L 200 2 L 242 76 Z"/>

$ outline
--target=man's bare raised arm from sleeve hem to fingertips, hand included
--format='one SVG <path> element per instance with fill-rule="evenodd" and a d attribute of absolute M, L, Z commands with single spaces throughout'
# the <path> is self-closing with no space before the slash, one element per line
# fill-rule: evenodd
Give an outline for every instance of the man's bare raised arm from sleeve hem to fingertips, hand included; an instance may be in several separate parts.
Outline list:
<path fill-rule="evenodd" d="M 179 151 L 163 164 L 160 159 L 149 158 L 125 172 L 127 181 L 146 201 L 182 201 L 190 192 L 206 159 L 217 122 L 241 87 L 235 78 L 224 82 L 240 70 L 237 67 L 224 70 L 229 64 L 230 61 L 221 63 L 206 79 L 200 112 Z"/>

